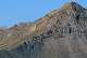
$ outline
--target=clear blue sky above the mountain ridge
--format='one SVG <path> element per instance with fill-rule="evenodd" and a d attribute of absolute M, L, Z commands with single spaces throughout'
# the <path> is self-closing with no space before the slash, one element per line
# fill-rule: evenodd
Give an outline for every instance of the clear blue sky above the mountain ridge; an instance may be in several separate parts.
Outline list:
<path fill-rule="evenodd" d="M 87 0 L 76 0 L 87 6 Z M 69 0 L 0 0 L 0 27 L 17 23 L 34 21 Z"/>

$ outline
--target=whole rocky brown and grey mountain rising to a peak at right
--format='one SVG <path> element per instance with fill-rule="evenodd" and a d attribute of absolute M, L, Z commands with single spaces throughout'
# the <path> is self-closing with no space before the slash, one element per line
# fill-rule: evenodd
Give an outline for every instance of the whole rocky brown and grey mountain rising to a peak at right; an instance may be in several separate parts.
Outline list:
<path fill-rule="evenodd" d="M 87 58 L 87 9 L 70 2 L 34 24 L 1 29 L 0 58 Z"/>

